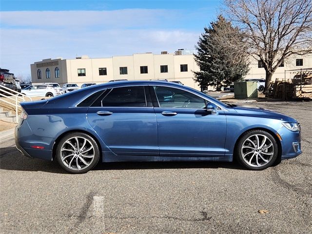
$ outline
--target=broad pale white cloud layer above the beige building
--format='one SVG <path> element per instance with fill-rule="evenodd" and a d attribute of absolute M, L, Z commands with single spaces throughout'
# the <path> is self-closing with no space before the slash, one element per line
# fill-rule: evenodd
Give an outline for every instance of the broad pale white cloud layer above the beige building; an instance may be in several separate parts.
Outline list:
<path fill-rule="evenodd" d="M 182 13 L 185 16 L 185 12 L 146 9 L 1 12 L 0 66 L 27 75 L 31 63 L 47 58 L 194 49 L 200 31 L 183 28 L 181 21 L 188 17 L 181 20 Z"/>

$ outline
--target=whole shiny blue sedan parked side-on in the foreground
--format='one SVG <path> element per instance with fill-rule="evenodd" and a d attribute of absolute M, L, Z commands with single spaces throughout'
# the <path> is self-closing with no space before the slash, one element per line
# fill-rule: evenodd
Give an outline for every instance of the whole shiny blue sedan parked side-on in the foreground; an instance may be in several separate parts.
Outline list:
<path fill-rule="evenodd" d="M 21 106 L 18 150 L 75 174 L 99 160 L 236 159 L 263 170 L 302 153 L 296 119 L 228 105 L 172 82 L 110 82 Z"/>

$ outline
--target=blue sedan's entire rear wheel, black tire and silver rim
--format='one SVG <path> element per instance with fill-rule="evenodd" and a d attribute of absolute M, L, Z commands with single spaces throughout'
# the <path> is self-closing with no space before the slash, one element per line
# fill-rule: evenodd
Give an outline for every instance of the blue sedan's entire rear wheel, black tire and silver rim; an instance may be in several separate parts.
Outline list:
<path fill-rule="evenodd" d="M 64 136 L 57 147 L 59 165 L 67 172 L 82 174 L 93 169 L 99 160 L 97 142 L 85 133 Z"/>

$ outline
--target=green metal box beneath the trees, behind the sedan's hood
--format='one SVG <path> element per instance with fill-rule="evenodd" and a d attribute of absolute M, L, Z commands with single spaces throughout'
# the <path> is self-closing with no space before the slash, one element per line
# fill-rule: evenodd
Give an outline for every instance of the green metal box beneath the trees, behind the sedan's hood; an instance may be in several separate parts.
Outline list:
<path fill-rule="evenodd" d="M 236 99 L 258 98 L 257 82 L 234 82 L 234 96 Z"/>

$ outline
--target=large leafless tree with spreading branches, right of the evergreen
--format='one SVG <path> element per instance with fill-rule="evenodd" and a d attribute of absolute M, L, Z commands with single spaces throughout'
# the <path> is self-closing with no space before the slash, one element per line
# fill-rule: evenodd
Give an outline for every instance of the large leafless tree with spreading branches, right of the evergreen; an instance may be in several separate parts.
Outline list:
<path fill-rule="evenodd" d="M 284 60 L 312 53 L 312 0 L 224 1 L 227 16 L 245 34 L 248 53 L 265 69 L 265 90 Z"/>

